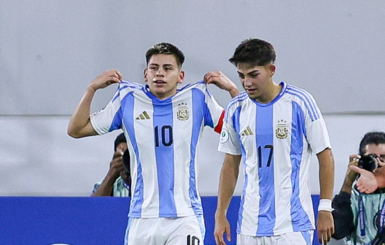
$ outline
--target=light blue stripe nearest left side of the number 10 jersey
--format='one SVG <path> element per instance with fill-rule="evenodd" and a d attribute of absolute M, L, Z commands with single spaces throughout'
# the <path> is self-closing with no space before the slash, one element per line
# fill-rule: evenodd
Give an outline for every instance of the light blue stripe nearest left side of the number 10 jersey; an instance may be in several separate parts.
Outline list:
<path fill-rule="evenodd" d="M 123 123 L 127 129 L 129 140 L 131 141 L 132 147 L 134 148 L 135 156 L 137 159 L 137 179 L 135 184 L 135 190 L 132 193 L 132 201 L 130 206 L 130 217 L 141 217 L 142 204 L 143 204 L 143 175 L 142 175 L 142 164 L 139 157 L 138 145 L 136 143 L 136 135 L 134 130 L 134 95 L 133 93 L 127 94 L 122 99 L 122 111 L 123 111 Z M 127 139 L 128 140 L 128 139 Z"/>

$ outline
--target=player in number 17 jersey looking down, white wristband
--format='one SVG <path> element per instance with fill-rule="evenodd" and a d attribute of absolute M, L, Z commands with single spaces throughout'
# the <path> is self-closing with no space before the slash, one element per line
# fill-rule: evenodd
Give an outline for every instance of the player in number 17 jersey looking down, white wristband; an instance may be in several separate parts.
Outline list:
<path fill-rule="evenodd" d="M 334 160 L 320 109 L 304 89 L 273 81 L 273 46 L 244 40 L 229 59 L 238 68 L 244 92 L 229 101 L 219 151 L 225 152 L 215 214 L 216 243 L 230 240 L 226 219 L 243 159 L 244 185 L 239 208 L 237 244 L 312 243 L 313 206 L 309 186 L 311 154 L 320 164 L 318 240 L 333 231 L 331 197 Z"/>

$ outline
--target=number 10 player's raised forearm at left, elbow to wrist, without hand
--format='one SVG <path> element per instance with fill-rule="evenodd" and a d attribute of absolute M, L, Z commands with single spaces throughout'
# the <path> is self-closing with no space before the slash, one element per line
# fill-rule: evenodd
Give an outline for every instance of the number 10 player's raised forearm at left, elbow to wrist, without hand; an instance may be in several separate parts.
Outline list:
<path fill-rule="evenodd" d="M 68 124 L 67 133 L 74 138 L 84 137 L 83 129 L 90 124 L 91 101 L 94 98 L 95 89 L 89 87 L 75 109 Z"/>

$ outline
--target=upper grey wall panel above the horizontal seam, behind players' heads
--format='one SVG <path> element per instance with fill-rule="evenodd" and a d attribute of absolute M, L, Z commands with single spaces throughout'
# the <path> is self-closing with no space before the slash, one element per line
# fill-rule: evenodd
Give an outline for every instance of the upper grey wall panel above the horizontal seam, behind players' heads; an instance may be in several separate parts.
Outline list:
<path fill-rule="evenodd" d="M 227 59 L 249 37 L 273 43 L 275 81 L 307 89 L 322 111 L 383 111 L 384 9 L 349 0 L 2 0 L 0 114 L 72 114 L 104 70 L 141 82 L 144 53 L 161 41 L 186 54 L 186 83 L 209 70 L 237 80 Z M 92 109 L 114 89 L 100 91 Z"/>

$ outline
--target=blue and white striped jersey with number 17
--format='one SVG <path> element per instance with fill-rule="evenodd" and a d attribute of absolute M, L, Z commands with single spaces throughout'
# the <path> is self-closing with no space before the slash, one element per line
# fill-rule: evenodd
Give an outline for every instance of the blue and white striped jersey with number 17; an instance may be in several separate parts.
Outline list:
<path fill-rule="evenodd" d="M 268 104 L 238 94 L 226 107 L 218 150 L 242 155 L 244 185 L 237 233 L 273 236 L 315 229 L 311 155 L 331 148 L 313 96 L 281 82 Z"/>

